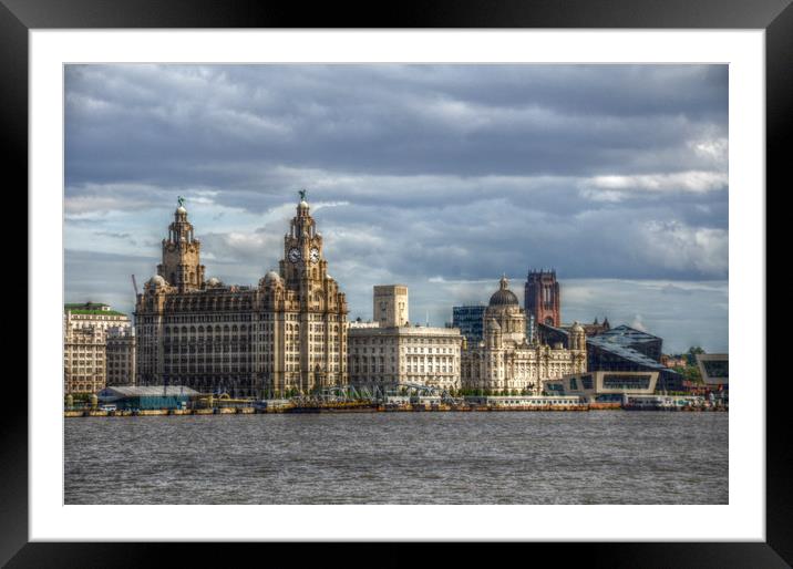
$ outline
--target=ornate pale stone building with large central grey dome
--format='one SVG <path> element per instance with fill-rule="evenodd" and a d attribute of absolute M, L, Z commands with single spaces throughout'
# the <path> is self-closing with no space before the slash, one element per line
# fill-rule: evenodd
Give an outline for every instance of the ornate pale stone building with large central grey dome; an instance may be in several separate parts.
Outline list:
<path fill-rule="evenodd" d="M 584 329 L 575 327 L 569 348 L 531 343 L 526 312 L 502 277 L 485 310 L 484 341 L 464 343 L 463 389 L 539 394 L 543 381 L 585 370 Z"/>

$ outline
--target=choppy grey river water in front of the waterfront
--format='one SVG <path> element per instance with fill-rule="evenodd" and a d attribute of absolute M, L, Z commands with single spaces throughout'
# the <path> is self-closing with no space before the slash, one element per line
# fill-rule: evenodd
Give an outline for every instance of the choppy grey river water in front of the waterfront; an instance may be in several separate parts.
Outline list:
<path fill-rule="evenodd" d="M 728 504 L 727 413 L 66 418 L 65 504 Z"/>

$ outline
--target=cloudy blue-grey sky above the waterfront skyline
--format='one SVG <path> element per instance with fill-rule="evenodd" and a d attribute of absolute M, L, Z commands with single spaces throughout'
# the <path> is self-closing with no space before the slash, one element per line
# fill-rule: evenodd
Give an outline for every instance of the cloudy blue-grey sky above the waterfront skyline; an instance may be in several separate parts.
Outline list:
<path fill-rule="evenodd" d="M 64 105 L 66 302 L 131 313 L 177 196 L 255 284 L 305 188 L 350 319 L 553 267 L 564 322 L 728 351 L 727 65 L 68 65 Z"/>

